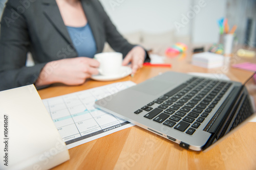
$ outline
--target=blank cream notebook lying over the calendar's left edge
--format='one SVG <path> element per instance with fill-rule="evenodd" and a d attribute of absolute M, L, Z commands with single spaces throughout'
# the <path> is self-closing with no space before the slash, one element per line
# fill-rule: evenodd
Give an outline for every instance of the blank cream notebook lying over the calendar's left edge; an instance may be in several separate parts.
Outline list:
<path fill-rule="evenodd" d="M 70 159 L 34 85 L 0 91 L 0 169 L 50 169 Z"/>

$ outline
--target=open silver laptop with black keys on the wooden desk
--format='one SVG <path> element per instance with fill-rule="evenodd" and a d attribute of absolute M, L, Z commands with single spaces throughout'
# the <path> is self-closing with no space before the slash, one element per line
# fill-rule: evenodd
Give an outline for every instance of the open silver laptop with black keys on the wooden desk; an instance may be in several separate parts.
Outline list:
<path fill-rule="evenodd" d="M 95 107 L 202 151 L 255 115 L 249 95 L 256 96 L 253 76 L 243 85 L 167 71 L 98 100 Z"/>

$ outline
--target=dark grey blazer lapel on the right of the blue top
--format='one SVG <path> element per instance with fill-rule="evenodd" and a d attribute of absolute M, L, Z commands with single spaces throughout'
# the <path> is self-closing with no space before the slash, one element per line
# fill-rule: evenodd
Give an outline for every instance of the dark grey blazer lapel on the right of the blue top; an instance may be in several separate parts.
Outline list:
<path fill-rule="evenodd" d="M 96 46 L 97 46 L 97 52 L 96 53 L 100 53 L 101 52 L 100 49 L 103 48 L 103 47 L 101 47 L 101 45 L 102 45 L 101 41 L 102 40 L 101 40 L 101 37 L 100 37 L 99 32 L 98 32 L 98 27 L 100 27 L 100 26 L 99 26 L 97 18 L 95 18 L 95 15 L 94 15 L 95 11 L 93 10 L 90 2 L 81 1 L 81 3 L 82 3 L 83 11 L 86 14 L 87 21 L 88 21 L 88 23 L 91 27 L 92 32 L 93 32 L 94 39 L 96 41 Z"/>

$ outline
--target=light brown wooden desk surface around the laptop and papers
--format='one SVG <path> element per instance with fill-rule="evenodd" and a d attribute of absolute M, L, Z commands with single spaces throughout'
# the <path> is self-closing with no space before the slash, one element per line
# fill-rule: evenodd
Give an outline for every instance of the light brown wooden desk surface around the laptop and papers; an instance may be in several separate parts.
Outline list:
<path fill-rule="evenodd" d="M 160 72 L 223 73 L 233 81 L 245 82 L 252 72 L 231 68 L 230 64 L 255 59 L 230 58 L 222 68 L 205 69 L 190 64 L 190 54 L 166 58 L 171 68 L 143 67 L 132 78 L 118 81 L 135 83 L 157 76 Z M 42 99 L 86 90 L 118 81 L 89 80 L 80 86 L 56 85 L 39 90 Z M 248 123 L 208 152 L 187 151 L 138 126 L 79 145 L 69 150 L 71 159 L 53 169 L 256 169 L 256 123 Z"/>

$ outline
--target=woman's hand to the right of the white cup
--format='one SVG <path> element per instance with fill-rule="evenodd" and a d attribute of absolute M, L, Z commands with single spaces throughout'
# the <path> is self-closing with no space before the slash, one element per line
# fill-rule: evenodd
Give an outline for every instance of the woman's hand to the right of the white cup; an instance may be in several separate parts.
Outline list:
<path fill-rule="evenodd" d="M 122 65 L 132 63 L 132 74 L 143 66 L 145 59 L 145 50 L 141 46 L 135 46 L 123 59 Z"/>

